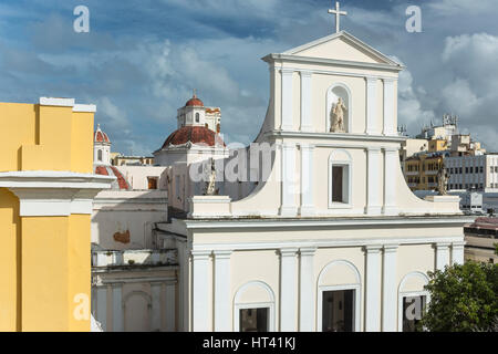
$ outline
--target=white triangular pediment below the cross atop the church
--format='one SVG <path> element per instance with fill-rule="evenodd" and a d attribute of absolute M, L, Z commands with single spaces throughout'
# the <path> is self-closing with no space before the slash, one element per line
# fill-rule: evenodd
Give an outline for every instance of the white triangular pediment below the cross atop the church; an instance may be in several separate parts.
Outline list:
<path fill-rule="evenodd" d="M 345 31 L 293 48 L 282 54 L 403 66 Z"/>

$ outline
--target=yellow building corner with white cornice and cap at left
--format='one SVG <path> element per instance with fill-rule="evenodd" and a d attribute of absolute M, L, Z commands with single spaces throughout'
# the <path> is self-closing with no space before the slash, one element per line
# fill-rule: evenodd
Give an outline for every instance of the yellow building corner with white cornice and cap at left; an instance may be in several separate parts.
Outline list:
<path fill-rule="evenodd" d="M 94 113 L 0 103 L 0 331 L 90 331 Z"/>

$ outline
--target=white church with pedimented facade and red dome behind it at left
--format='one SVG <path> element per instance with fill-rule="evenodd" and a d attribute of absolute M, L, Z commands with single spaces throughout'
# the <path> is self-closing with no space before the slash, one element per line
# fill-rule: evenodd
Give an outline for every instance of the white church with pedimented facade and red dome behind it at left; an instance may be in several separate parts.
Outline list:
<path fill-rule="evenodd" d="M 396 129 L 403 65 L 345 31 L 263 61 L 269 108 L 241 163 L 240 176 L 256 176 L 240 180 L 243 190 L 218 180 L 216 194 L 203 195 L 205 183 L 189 181 L 199 160 L 219 162 L 221 176 L 234 160 L 220 114 L 207 122 L 196 96 L 155 153 L 176 210 L 144 246 L 175 250 L 174 290 L 157 300 L 169 320 L 156 321 L 174 331 L 413 330 L 418 317 L 407 306 L 429 303 L 428 271 L 464 261 L 469 219 L 457 197 L 422 200 L 405 183 Z M 262 145 L 272 147 L 268 176 L 253 150 Z M 108 289 L 103 316 L 121 323 L 123 300 L 113 303 Z"/>

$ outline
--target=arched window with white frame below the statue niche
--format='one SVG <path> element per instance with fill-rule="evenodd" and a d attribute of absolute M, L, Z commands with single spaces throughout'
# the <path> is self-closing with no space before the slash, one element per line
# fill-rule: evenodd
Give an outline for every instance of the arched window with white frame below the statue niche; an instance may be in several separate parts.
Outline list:
<path fill-rule="evenodd" d="M 329 157 L 329 208 L 352 207 L 352 164 L 350 153 L 332 152 Z"/>

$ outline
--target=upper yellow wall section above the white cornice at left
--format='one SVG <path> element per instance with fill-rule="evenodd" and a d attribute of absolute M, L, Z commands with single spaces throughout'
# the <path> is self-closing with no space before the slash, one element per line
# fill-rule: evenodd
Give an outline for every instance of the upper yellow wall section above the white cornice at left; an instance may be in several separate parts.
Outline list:
<path fill-rule="evenodd" d="M 0 171 L 92 173 L 93 113 L 0 103 Z"/>

